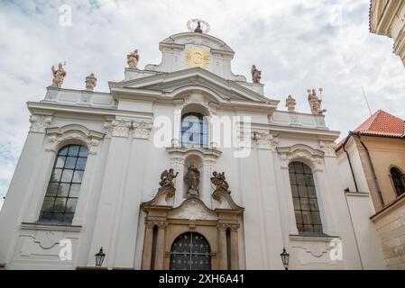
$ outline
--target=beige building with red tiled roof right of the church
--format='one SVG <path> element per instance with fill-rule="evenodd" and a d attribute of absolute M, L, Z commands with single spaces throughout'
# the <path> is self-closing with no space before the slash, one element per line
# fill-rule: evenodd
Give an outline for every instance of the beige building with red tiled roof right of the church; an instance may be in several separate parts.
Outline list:
<path fill-rule="evenodd" d="M 364 217 L 375 226 L 386 266 L 405 269 L 404 121 L 379 110 L 349 132 L 336 155 L 346 194 L 371 197 Z"/>

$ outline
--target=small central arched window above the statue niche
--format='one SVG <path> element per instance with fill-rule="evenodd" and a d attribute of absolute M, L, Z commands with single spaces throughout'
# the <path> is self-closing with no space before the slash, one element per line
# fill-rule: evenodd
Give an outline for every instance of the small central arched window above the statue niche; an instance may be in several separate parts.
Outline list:
<path fill-rule="evenodd" d="M 181 147 L 208 146 L 208 124 L 199 113 L 186 113 L 181 117 Z"/>

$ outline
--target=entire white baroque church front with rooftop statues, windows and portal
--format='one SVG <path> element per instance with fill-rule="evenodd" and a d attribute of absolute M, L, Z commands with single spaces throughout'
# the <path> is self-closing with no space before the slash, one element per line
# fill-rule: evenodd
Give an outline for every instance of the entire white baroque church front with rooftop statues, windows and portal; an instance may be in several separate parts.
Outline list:
<path fill-rule="evenodd" d="M 311 113 L 292 97 L 279 110 L 261 72 L 235 75 L 234 50 L 199 28 L 162 40 L 159 65 L 130 53 L 109 93 L 94 75 L 86 90 L 62 88 L 52 67 L 44 99 L 28 103 L 0 265 L 92 268 L 103 247 L 108 269 L 283 269 L 284 248 L 290 269 L 383 267 L 373 227 L 347 204 L 339 133 L 316 92 Z"/>

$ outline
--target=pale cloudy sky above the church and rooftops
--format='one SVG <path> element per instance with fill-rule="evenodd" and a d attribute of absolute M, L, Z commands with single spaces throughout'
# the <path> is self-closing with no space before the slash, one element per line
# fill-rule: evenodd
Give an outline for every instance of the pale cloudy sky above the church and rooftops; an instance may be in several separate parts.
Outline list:
<path fill-rule="evenodd" d="M 369 32 L 369 0 L 77 0 L 0 2 L 0 198 L 7 192 L 29 129 L 28 101 L 51 85 L 51 66 L 66 61 L 64 87 L 84 89 L 95 73 L 97 91 L 124 79 L 126 54 L 139 67 L 159 64 L 159 42 L 204 19 L 209 34 L 235 50 L 235 74 L 262 70 L 265 95 L 291 94 L 309 112 L 307 89 L 322 87 L 331 130 L 354 130 L 382 109 L 405 119 L 405 67 L 393 41 Z M 71 11 L 71 22 L 68 18 Z M 2 201 L 0 201 L 0 206 Z"/>

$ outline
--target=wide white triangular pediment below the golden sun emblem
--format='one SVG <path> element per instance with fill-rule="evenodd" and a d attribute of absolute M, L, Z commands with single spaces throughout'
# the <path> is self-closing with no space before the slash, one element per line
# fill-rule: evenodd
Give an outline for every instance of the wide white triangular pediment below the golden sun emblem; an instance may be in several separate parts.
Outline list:
<path fill-rule="evenodd" d="M 176 71 L 170 74 L 157 74 L 122 82 L 110 82 L 111 94 L 115 100 L 122 98 L 151 101 L 172 101 L 181 94 L 203 92 L 215 98 L 218 104 L 258 105 L 261 109 L 274 111 L 279 103 L 262 94 L 226 80 L 200 67 Z"/>

